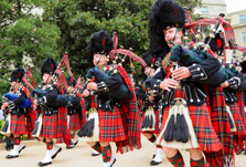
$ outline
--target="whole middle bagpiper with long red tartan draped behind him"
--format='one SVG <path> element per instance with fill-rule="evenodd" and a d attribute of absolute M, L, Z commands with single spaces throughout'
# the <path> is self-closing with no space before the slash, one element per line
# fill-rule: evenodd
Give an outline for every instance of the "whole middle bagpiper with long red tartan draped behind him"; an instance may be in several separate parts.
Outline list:
<path fill-rule="evenodd" d="M 78 132 L 93 149 L 101 153 L 104 167 L 116 161 L 109 143 L 115 143 L 121 154 L 141 147 L 140 117 L 130 79 L 122 66 L 107 65 L 113 49 L 113 39 L 105 31 L 90 35 L 87 48 L 90 69 L 86 74 L 90 80 L 83 95 L 94 95 L 97 106 L 90 102 L 88 119 Z"/>

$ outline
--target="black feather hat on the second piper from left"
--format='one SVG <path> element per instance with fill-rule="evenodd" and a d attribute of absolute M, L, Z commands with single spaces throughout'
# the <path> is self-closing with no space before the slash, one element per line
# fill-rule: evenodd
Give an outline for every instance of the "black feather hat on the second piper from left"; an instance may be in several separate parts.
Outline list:
<path fill-rule="evenodd" d="M 57 64 L 56 64 L 55 60 L 53 60 L 52 58 L 49 58 L 49 59 L 44 60 L 42 65 L 41 65 L 42 76 L 43 76 L 44 73 L 49 73 L 49 74 L 53 75 L 56 67 L 57 67 Z"/>

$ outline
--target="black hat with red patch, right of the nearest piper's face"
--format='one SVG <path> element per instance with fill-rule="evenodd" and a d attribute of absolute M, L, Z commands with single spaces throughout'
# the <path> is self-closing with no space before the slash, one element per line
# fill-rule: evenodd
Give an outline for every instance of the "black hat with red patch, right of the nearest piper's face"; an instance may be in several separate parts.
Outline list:
<path fill-rule="evenodd" d="M 210 36 L 206 36 L 204 43 L 207 43 Z M 221 36 L 221 32 L 215 34 L 214 39 L 211 39 L 210 48 L 213 52 L 222 55 L 225 48 L 225 40 Z"/>

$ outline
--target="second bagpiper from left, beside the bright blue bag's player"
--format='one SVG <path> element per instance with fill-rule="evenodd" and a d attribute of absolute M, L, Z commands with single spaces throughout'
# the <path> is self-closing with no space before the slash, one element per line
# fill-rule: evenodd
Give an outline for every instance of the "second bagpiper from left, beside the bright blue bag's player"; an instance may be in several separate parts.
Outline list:
<path fill-rule="evenodd" d="M 55 60 L 49 58 L 43 61 L 41 66 L 42 85 L 32 91 L 33 107 L 38 112 L 38 121 L 41 118 L 39 138 L 46 144 L 46 155 L 38 165 L 46 166 L 52 164 L 62 147 L 54 144 L 65 142 L 66 145 L 71 144 L 71 138 L 67 129 L 66 109 L 67 97 L 58 96 L 60 91 L 56 87 L 55 71 L 57 64 Z"/>

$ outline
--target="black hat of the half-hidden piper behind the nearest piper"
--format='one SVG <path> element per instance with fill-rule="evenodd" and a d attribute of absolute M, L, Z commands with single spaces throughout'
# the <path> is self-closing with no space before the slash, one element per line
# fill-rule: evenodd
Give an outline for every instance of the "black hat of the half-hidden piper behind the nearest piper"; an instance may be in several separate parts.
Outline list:
<path fill-rule="evenodd" d="M 146 64 L 152 69 L 158 69 L 161 66 L 161 59 L 157 58 L 156 55 L 151 54 L 150 51 L 146 52 L 142 55 L 142 60 Z"/>

